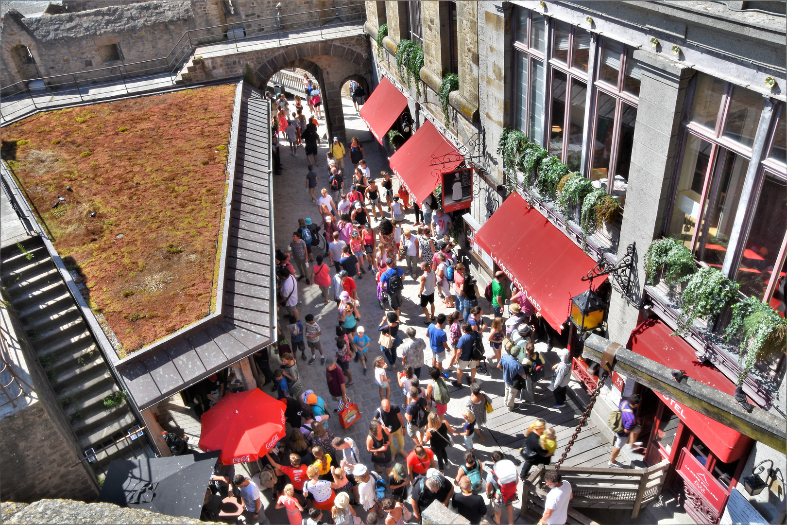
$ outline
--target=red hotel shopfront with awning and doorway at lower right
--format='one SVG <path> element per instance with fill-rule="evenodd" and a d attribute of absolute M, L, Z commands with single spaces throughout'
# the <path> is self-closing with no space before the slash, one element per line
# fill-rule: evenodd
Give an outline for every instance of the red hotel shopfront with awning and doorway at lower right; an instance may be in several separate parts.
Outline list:
<path fill-rule="evenodd" d="M 626 348 L 671 369 L 684 370 L 690 378 L 716 390 L 734 394 L 735 385 L 722 372 L 700 362 L 693 347 L 672 333 L 663 321 L 648 319 L 632 331 Z M 589 389 L 595 388 L 598 377 L 592 368 L 588 371 L 585 362 L 575 359 L 574 372 Z M 642 425 L 639 439 L 645 447 L 645 464 L 669 460 L 664 483 L 667 490 L 678 497 L 696 523 L 719 523 L 730 491 L 741 478 L 753 440 L 670 397 L 637 383 L 626 384 L 615 372 L 610 379 L 612 388 L 622 397 L 634 393 L 642 396 L 637 417 Z"/>

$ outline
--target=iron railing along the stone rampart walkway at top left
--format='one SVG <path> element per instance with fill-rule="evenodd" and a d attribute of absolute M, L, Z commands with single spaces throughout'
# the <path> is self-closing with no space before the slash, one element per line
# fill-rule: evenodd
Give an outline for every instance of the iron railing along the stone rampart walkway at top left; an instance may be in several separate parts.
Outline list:
<path fill-rule="evenodd" d="M 50 108 L 49 102 L 52 91 L 76 89 L 80 102 L 86 102 L 83 90 L 87 83 L 97 87 L 98 83 L 122 83 L 125 94 L 131 94 L 128 82 L 140 76 L 161 75 L 168 76 L 169 82 L 176 82 L 179 72 L 194 56 L 198 47 L 202 47 L 205 54 L 211 50 L 206 46 L 215 45 L 213 53 L 224 53 L 227 46 L 235 49 L 235 53 L 251 50 L 261 40 L 276 40 L 279 46 L 283 43 L 294 43 L 298 40 L 311 41 L 315 39 L 319 30 L 320 39 L 336 38 L 342 33 L 353 33 L 357 27 L 363 27 L 366 18 L 363 2 L 349 4 L 338 8 L 316 9 L 300 13 L 277 13 L 272 17 L 258 17 L 228 24 L 219 24 L 207 28 L 191 29 L 183 33 L 172 50 L 166 57 L 152 58 L 144 61 L 127 62 L 109 65 L 103 68 L 87 69 L 79 72 L 69 72 L 60 75 L 42 76 L 34 79 L 25 79 L 2 88 L 2 93 L 7 93 L 6 101 L 14 102 L 29 98 L 33 109 L 39 106 Z M 345 28 L 345 31 L 336 31 Z M 327 34 L 327 31 L 333 30 Z M 209 56 L 205 56 L 209 57 Z M 34 86 L 31 88 L 30 84 Z M 36 85 L 36 84 L 42 85 Z M 39 102 L 36 102 L 39 97 Z M 10 101 L 9 101 L 10 98 Z M 68 105 L 73 105 L 69 103 Z M 29 113 L 29 107 L 12 110 L 3 114 L 0 119 L 9 121 L 16 119 L 19 114 Z"/>

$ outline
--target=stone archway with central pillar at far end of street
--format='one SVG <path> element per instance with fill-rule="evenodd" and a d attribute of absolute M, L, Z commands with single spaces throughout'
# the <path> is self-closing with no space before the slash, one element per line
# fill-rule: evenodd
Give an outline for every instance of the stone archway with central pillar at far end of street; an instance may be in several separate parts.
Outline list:
<path fill-rule="evenodd" d="M 320 83 L 328 134 L 346 143 L 342 85 L 351 77 L 363 79 L 364 87 L 369 85 L 371 48 L 367 39 L 345 37 L 286 46 L 257 66 L 255 80 L 264 86 L 275 72 L 290 67 L 305 69 Z"/>

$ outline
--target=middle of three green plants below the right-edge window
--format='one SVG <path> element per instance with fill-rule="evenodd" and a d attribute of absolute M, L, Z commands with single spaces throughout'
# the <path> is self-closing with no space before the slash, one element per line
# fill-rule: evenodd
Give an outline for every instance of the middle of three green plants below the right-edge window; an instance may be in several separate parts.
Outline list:
<path fill-rule="evenodd" d="M 737 298 L 738 283 L 716 268 L 700 268 L 681 294 L 676 335 L 687 335 L 695 319 L 711 320 Z"/>

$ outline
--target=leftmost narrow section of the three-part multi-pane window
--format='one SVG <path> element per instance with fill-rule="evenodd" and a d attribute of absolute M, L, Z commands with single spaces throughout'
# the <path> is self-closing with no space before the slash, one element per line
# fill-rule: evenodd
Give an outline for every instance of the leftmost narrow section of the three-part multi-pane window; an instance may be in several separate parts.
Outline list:
<path fill-rule="evenodd" d="M 513 127 L 541 144 L 544 135 L 546 20 L 529 9 L 516 9 L 516 13 Z"/>

